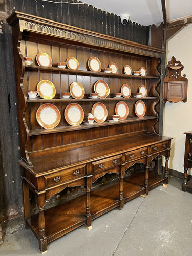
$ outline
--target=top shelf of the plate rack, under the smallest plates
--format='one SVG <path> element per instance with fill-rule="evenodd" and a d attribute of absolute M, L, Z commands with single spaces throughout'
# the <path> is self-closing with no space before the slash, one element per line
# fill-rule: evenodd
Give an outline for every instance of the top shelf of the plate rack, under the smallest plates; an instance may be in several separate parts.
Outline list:
<path fill-rule="evenodd" d="M 126 75 L 126 74 L 112 74 L 112 73 L 105 73 L 105 72 L 92 72 L 87 70 L 72 70 L 72 69 L 60 69 L 57 67 L 41 67 L 41 66 L 35 66 L 35 65 L 26 65 L 26 69 L 30 70 L 42 70 L 42 71 L 54 71 L 54 72 L 60 72 L 63 74 L 70 74 L 70 75 L 83 75 L 83 76 L 98 76 L 98 77 L 113 77 L 113 78 L 136 78 L 136 79 L 159 79 L 159 76 L 134 76 L 134 75 Z"/>

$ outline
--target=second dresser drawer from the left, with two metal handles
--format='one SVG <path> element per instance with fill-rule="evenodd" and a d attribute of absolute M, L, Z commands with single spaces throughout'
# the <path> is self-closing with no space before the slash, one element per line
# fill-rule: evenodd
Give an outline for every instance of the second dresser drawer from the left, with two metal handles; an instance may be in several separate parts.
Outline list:
<path fill-rule="evenodd" d="M 100 160 L 97 162 L 93 162 L 92 163 L 93 172 L 100 172 L 101 170 L 120 165 L 121 164 L 121 156 L 122 155 L 118 155 L 115 157 L 110 157 L 110 158 L 106 158 L 106 159 L 103 159 L 103 160 Z"/>

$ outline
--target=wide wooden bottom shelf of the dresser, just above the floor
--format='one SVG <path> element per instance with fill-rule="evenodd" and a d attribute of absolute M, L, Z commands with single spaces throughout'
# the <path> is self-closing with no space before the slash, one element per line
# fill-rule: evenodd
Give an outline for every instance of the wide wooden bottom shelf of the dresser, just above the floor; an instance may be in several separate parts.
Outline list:
<path fill-rule="evenodd" d="M 149 173 L 149 186 L 157 186 L 162 183 L 162 176 L 155 173 Z M 144 172 L 126 177 L 123 183 L 124 201 L 128 202 L 133 198 L 145 193 L 144 188 Z M 119 206 L 119 181 L 104 185 L 100 189 L 91 191 L 91 215 L 92 219 L 99 217 L 105 212 Z M 46 236 L 48 243 L 61 237 L 63 234 L 86 224 L 85 217 L 85 202 L 86 195 L 82 195 L 73 200 L 70 200 L 62 205 L 57 205 L 45 210 Z M 38 214 L 33 215 L 28 219 L 30 228 L 38 237 Z"/>

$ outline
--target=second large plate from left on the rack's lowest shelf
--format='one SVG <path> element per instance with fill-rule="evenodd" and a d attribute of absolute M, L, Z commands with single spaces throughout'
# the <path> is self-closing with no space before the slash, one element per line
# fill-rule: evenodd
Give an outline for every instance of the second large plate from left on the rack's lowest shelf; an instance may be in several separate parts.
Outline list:
<path fill-rule="evenodd" d="M 66 121 L 72 125 L 76 126 L 82 123 L 84 119 L 84 112 L 82 107 L 77 103 L 71 103 L 66 106 L 64 116 Z"/>

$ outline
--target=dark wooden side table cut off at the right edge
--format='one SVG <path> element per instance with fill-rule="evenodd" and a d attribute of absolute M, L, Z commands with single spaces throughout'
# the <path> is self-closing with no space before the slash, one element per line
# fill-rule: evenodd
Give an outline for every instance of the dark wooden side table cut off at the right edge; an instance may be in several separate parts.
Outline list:
<path fill-rule="evenodd" d="M 183 191 L 192 192 L 192 179 L 188 179 L 188 168 L 192 167 L 192 131 L 184 133 L 186 134 L 185 140 L 185 155 L 184 155 L 184 180 L 182 184 Z"/>

